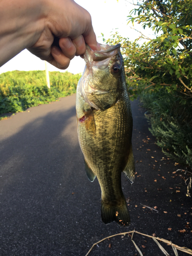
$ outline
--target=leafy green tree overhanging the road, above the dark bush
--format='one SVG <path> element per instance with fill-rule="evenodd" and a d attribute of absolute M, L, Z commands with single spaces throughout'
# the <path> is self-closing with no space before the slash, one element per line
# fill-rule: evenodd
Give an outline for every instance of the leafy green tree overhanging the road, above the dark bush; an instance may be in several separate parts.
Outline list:
<path fill-rule="evenodd" d="M 144 89 L 153 93 L 165 88 L 185 104 L 192 98 L 192 2 L 142 0 L 136 6 L 129 22 L 153 29 L 155 38 L 141 34 L 130 42 L 116 33 L 107 40 L 121 43 L 131 95 L 135 98 Z M 140 38 L 146 40 L 142 45 Z"/>

